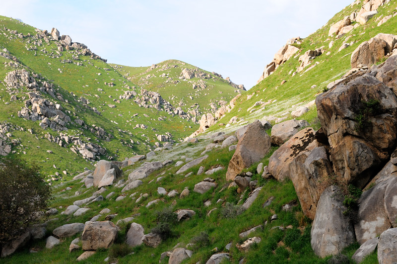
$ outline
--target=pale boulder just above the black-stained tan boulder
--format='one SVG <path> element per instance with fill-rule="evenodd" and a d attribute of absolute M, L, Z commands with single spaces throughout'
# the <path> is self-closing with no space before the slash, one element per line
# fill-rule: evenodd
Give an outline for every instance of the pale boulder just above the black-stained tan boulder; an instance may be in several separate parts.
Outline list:
<path fill-rule="evenodd" d="M 288 120 L 275 124 L 271 128 L 271 144 L 281 146 L 285 141 L 299 132 L 304 127 L 309 126 L 306 120 Z"/>

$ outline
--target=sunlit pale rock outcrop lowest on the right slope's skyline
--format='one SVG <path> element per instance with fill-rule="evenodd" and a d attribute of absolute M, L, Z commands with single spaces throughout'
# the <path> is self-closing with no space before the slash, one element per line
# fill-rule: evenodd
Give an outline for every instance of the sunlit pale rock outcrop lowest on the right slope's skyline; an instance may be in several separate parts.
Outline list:
<path fill-rule="evenodd" d="M 257 84 L 262 82 L 266 77 L 272 74 L 278 68 L 278 66 L 291 59 L 292 56 L 299 51 L 297 47 L 291 45 L 295 42 L 299 42 L 299 40 L 300 37 L 288 40 L 287 44 L 277 51 L 277 53 L 274 55 L 273 61 L 265 66 L 265 70 L 261 78 L 259 78 L 259 80 L 257 81 Z"/>

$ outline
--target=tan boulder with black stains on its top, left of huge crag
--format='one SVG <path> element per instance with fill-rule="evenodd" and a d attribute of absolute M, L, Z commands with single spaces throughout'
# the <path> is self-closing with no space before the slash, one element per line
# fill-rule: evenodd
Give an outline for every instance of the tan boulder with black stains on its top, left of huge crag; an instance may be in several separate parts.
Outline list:
<path fill-rule="evenodd" d="M 290 178 L 289 164 L 300 154 L 318 146 L 313 128 L 302 129 L 271 155 L 268 165 L 269 173 L 277 180 Z"/>

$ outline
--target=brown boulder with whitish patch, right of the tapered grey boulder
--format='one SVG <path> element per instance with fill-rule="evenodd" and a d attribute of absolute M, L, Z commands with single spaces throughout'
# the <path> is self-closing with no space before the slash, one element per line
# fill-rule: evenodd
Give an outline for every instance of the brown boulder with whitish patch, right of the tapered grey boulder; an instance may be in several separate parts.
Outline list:
<path fill-rule="evenodd" d="M 377 183 L 371 189 L 363 192 L 359 200 L 358 221 L 354 225 L 357 242 L 361 245 L 373 239 L 392 224 L 385 208 L 385 191 L 393 178 Z M 396 188 L 396 185 L 394 185 Z"/>

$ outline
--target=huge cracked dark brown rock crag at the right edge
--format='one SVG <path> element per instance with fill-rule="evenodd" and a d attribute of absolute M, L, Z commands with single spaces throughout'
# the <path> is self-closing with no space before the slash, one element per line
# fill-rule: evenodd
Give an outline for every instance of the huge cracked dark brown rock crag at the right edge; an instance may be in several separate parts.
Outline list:
<path fill-rule="evenodd" d="M 372 75 L 358 73 L 317 96 L 316 105 L 335 175 L 364 187 L 395 148 L 396 95 Z"/>

